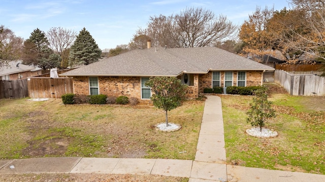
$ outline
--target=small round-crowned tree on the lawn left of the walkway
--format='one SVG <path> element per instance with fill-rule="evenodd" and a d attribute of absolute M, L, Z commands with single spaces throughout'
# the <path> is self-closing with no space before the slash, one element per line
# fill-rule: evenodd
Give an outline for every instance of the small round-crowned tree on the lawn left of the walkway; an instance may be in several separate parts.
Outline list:
<path fill-rule="evenodd" d="M 164 109 L 166 113 L 166 126 L 168 125 L 168 111 L 181 105 L 185 98 L 187 85 L 182 84 L 176 77 L 150 77 L 145 85 L 151 87 L 153 93 L 150 98 L 153 105 Z"/>

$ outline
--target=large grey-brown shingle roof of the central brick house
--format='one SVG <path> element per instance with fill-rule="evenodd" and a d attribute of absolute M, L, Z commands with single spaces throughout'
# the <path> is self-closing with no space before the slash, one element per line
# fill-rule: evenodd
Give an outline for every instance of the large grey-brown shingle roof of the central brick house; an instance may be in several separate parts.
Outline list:
<path fill-rule="evenodd" d="M 104 58 L 60 76 L 177 76 L 226 70 L 274 70 L 215 47 L 150 48 Z"/>

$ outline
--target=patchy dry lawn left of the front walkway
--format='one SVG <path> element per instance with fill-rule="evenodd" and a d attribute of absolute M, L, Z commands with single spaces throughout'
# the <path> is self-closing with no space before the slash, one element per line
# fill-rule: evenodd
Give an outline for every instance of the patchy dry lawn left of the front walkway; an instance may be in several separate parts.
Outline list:
<path fill-rule="evenodd" d="M 182 129 L 166 133 L 152 128 L 165 119 L 163 110 L 154 107 L 63 105 L 60 99 L 0 100 L 0 104 L 4 110 L 0 118 L 3 159 L 83 156 L 192 160 L 204 108 L 203 101 L 185 101 L 169 112 L 170 122 L 181 124 Z"/>

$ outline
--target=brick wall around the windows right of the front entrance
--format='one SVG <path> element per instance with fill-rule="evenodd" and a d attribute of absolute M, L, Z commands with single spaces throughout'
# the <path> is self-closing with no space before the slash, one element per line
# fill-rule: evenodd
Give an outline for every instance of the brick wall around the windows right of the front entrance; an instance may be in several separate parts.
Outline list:
<path fill-rule="evenodd" d="M 233 85 L 237 86 L 238 71 L 233 71 Z M 263 71 L 246 71 L 246 86 L 262 85 Z M 199 93 L 203 93 L 204 88 L 211 88 L 212 71 L 199 76 Z M 224 71 L 220 71 L 220 86 L 224 86 Z"/>

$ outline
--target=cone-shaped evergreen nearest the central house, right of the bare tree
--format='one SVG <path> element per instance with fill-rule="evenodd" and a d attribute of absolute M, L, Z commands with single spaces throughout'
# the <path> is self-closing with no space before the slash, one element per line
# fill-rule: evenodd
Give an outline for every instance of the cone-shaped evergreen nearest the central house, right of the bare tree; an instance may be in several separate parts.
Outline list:
<path fill-rule="evenodd" d="M 99 49 L 95 40 L 90 33 L 83 28 L 70 48 L 70 62 L 71 64 L 88 65 L 98 61 L 101 57 L 102 50 Z"/>

